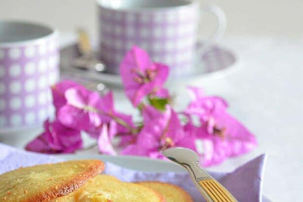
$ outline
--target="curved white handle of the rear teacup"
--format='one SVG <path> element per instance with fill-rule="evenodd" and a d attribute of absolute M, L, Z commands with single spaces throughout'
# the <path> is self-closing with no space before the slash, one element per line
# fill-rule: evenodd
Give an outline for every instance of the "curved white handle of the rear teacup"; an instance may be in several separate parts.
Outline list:
<path fill-rule="evenodd" d="M 203 45 L 198 48 L 197 54 L 199 55 L 199 58 L 201 58 L 201 56 L 204 55 L 215 42 L 222 38 L 225 33 L 227 24 L 225 12 L 219 6 L 208 5 L 203 7 L 201 11 L 201 13 L 213 13 L 217 17 L 217 29 L 211 36 L 208 37 L 207 40 L 204 41 Z M 201 42 L 201 39 L 198 40 Z"/>

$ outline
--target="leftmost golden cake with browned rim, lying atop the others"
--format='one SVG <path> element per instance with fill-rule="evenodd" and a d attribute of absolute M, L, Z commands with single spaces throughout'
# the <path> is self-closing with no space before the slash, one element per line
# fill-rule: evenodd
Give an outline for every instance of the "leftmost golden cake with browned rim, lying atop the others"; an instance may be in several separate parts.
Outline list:
<path fill-rule="evenodd" d="M 99 160 L 78 160 L 9 171 L 0 175 L 0 201 L 50 201 L 77 190 L 103 169 Z"/>

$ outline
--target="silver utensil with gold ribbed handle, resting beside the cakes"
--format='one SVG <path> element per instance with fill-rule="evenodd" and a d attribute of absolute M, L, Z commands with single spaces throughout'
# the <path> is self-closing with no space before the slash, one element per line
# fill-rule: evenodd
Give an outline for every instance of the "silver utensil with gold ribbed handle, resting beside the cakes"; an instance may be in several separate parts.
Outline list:
<path fill-rule="evenodd" d="M 236 202 L 227 189 L 199 166 L 199 156 L 193 150 L 175 147 L 162 151 L 162 154 L 187 169 L 197 189 L 207 202 Z"/>

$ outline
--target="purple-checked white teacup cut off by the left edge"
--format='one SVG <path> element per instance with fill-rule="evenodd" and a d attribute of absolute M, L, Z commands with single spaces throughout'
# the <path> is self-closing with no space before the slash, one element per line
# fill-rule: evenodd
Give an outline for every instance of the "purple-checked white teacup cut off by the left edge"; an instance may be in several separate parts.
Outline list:
<path fill-rule="evenodd" d="M 0 134 L 41 126 L 54 112 L 50 85 L 58 79 L 57 31 L 0 21 Z"/>

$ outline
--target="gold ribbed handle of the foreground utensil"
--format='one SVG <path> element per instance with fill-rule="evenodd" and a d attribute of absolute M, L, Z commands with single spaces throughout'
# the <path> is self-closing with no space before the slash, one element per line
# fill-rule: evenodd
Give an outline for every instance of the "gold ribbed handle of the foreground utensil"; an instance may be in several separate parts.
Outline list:
<path fill-rule="evenodd" d="M 233 195 L 215 179 L 204 179 L 198 183 L 207 202 L 237 202 Z"/>

